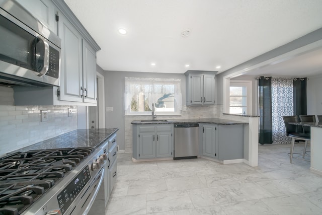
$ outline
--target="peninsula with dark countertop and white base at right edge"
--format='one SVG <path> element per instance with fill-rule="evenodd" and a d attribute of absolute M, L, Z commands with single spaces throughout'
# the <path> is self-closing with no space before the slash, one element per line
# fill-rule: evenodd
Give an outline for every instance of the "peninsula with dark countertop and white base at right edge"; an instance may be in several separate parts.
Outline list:
<path fill-rule="evenodd" d="M 292 125 L 311 127 L 311 167 L 310 170 L 322 174 L 322 122 L 289 122 Z"/>

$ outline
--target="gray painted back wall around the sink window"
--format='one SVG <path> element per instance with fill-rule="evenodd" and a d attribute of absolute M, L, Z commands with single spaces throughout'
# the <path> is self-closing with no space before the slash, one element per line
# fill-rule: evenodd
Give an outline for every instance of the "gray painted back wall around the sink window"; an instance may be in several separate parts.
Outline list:
<path fill-rule="evenodd" d="M 186 103 L 186 81 L 184 74 L 137 73 L 132 71 L 105 71 L 105 106 L 113 107 L 113 112 L 105 112 L 105 126 L 119 127 L 117 144 L 125 149 L 124 125 L 124 78 L 172 78 L 181 79 L 182 103 Z"/>

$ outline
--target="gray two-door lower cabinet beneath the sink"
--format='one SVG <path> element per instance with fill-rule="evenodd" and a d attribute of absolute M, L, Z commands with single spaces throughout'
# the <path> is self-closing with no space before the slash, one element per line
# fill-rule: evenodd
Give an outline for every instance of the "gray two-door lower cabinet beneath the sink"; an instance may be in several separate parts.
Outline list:
<path fill-rule="evenodd" d="M 173 124 L 133 124 L 133 158 L 173 157 Z"/>

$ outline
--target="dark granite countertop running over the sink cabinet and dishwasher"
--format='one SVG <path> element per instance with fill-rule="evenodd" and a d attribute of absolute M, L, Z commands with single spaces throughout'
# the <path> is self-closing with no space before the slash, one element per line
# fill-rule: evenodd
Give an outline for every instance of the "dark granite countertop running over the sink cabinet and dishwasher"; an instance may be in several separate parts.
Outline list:
<path fill-rule="evenodd" d="M 141 121 L 141 120 L 133 120 L 131 124 L 176 124 L 176 123 L 213 123 L 213 124 L 222 124 L 222 125 L 234 125 L 234 124 L 248 124 L 248 122 L 239 122 L 234 120 L 227 119 L 219 119 L 219 118 L 202 118 L 202 119 L 175 119 L 175 120 L 154 120 L 154 121 Z"/>

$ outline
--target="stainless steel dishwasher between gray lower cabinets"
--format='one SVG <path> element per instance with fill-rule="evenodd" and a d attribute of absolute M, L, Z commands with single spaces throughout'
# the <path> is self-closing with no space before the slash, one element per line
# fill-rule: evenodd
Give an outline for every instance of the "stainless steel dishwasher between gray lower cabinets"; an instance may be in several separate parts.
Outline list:
<path fill-rule="evenodd" d="M 173 159 L 197 158 L 199 146 L 198 123 L 175 123 L 175 151 Z"/>

